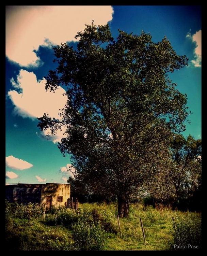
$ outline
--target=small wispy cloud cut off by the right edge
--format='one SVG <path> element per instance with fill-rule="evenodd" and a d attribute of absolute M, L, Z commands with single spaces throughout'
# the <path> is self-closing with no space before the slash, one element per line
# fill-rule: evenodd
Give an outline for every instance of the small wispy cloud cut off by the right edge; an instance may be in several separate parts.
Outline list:
<path fill-rule="evenodd" d="M 197 31 L 193 35 L 190 32 L 188 32 L 186 37 L 189 38 L 195 44 L 194 59 L 191 60 L 191 63 L 195 67 L 201 67 L 201 30 Z"/>

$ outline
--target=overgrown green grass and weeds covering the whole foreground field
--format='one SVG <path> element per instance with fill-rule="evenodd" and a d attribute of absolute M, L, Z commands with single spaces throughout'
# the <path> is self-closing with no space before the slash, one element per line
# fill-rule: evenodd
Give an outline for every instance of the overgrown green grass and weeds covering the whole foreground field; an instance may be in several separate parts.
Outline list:
<path fill-rule="evenodd" d="M 80 203 L 78 211 L 52 208 L 44 214 L 37 204 L 6 201 L 5 246 L 9 251 L 201 248 L 201 213 L 172 210 L 162 204 L 131 203 L 129 217 L 120 218 L 119 226 L 117 211 L 116 202 Z"/>

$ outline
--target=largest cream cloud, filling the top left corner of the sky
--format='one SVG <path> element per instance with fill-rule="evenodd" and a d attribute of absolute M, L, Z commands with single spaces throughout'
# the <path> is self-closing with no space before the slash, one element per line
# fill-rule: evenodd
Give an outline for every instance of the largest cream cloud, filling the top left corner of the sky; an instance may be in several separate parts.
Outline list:
<path fill-rule="evenodd" d="M 39 45 L 76 41 L 85 24 L 106 25 L 112 20 L 108 5 L 6 6 L 6 56 L 20 66 L 38 66 Z"/>

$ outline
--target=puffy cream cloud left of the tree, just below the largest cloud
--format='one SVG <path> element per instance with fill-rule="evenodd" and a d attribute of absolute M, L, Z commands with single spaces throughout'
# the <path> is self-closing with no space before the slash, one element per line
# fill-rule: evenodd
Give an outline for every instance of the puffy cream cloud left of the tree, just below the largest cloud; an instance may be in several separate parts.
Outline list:
<path fill-rule="evenodd" d="M 59 110 L 66 104 L 67 96 L 63 96 L 65 90 L 62 87 L 55 93 L 46 91 L 46 80 L 37 81 L 33 72 L 21 69 L 17 81 L 12 78 L 11 83 L 15 90 L 10 90 L 7 95 L 15 105 L 15 114 L 21 117 L 36 118 L 47 113 L 58 118 Z"/>

